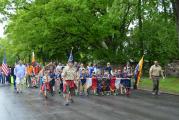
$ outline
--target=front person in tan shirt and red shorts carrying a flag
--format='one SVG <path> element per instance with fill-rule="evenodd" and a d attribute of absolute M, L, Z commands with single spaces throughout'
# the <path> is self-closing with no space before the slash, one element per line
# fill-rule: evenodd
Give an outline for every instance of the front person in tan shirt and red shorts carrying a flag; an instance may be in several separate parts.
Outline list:
<path fill-rule="evenodd" d="M 73 50 L 73 48 L 72 48 Z M 73 55 L 72 50 L 68 59 L 67 66 L 63 69 L 63 93 L 65 97 L 65 105 L 68 106 L 69 102 L 73 103 L 72 95 L 75 94 L 75 80 L 76 80 L 76 69 L 73 67 Z"/>

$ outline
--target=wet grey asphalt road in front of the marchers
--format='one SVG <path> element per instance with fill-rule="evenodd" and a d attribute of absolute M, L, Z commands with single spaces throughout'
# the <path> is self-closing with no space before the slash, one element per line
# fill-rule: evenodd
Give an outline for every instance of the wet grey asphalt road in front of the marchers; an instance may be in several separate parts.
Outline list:
<path fill-rule="evenodd" d="M 47 100 L 38 89 L 16 94 L 13 87 L 0 86 L 0 120 L 178 120 L 179 96 L 154 96 L 133 91 L 126 96 L 75 97 L 64 106 L 62 96 Z"/>

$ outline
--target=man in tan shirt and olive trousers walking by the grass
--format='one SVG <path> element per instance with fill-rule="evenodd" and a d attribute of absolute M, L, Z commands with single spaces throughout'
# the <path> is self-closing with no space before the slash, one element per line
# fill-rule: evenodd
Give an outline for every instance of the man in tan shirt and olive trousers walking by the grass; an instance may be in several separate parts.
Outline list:
<path fill-rule="evenodd" d="M 163 76 L 162 67 L 158 64 L 158 61 L 154 61 L 154 65 L 150 67 L 149 76 L 150 79 L 153 80 L 152 94 L 159 95 L 159 79 L 160 76 L 162 76 L 164 79 L 164 76 Z"/>

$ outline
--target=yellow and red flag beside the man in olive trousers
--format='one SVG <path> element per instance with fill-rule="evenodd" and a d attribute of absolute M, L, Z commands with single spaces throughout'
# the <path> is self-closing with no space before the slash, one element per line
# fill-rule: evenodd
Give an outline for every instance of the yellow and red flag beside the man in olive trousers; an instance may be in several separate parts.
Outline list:
<path fill-rule="evenodd" d="M 142 56 L 142 58 L 140 59 L 139 63 L 137 64 L 137 66 L 135 68 L 135 71 L 134 71 L 134 79 L 135 79 L 136 87 L 138 86 L 140 77 L 142 75 L 143 63 L 144 63 L 144 56 Z"/>

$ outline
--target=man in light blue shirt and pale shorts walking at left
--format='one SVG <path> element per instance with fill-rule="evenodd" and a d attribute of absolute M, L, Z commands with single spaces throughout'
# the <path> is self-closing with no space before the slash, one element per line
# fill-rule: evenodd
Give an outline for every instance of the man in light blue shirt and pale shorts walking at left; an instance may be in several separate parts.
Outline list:
<path fill-rule="evenodd" d="M 17 64 L 14 69 L 14 74 L 16 76 L 17 93 L 19 92 L 22 93 L 25 73 L 26 73 L 25 65 L 22 64 L 22 61 L 19 61 L 19 64 Z"/>

